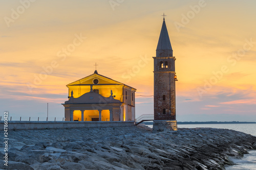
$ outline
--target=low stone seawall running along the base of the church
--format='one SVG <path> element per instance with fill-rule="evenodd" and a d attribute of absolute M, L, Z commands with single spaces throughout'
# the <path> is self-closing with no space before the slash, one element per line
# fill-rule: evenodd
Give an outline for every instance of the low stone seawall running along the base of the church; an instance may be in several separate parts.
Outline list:
<path fill-rule="evenodd" d="M 9 130 L 20 129 L 58 129 L 58 128 L 96 128 L 96 127 L 122 127 L 134 126 L 133 121 L 88 121 L 88 122 L 70 122 L 70 121 L 10 121 Z M 0 127 L 4 129 L 4 121 L 0 121 Z"/>

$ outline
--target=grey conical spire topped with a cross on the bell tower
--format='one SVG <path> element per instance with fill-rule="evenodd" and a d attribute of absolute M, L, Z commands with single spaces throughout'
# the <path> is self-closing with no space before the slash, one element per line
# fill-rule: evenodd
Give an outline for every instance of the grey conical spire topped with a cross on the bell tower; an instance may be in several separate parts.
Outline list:
<path fill-rule="evenodd" d="M 166 15 L 163 15 L 163 17 Z M 161 33 L 159 36 L 158 44 L 157 44 L 157 57 L 173 57 L 173 48 L 170 45 L 170 39 L 168 35 L 168 31 L 165 25 L 165 20 L 163 18 L 163 25 L 161 29 Z"/>

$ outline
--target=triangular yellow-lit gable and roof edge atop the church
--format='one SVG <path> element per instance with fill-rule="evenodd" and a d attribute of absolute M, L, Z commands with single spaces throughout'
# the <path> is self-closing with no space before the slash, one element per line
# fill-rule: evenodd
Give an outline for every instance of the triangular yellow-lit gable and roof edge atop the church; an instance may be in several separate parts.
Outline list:
<path fill-rule="evenodd" d="M 99 83 L 98 84 L 93 84 L 93 80 L 95 78 L 99 79 Z M 84 77 L 82 79 L 79 79 L 77 81 L 74 81 L 74 82 L 68 84 L 67 87 L 69 87 L 69 86 L 77 86 L 77 85 L 78 86 L 83 86 L 83 85 L 85 85 L 85 86 L 86 85 L 124 85 L 124 86 L 130 87 L 130 88 L 136 90 L 136 88 L 133 88 L 133 87 L 128 86 L 126 84 L 120 83 L 120 82 L 118 82 L 116 80 L 113 80 L 111 78 L 99 75 L 97 70 L 95 70 L 94 74 L 92 74 L 92 75 L 89 75 L 87 77 Z"/>

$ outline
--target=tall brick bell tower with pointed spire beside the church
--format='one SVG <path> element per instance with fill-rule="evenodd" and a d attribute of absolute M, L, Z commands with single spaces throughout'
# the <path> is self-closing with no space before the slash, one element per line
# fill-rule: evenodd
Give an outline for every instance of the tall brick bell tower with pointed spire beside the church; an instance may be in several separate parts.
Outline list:
<path fill-rule="evenodd" d="M 163 15 L 165 16 L 165 15 Z M 154 58 L 154 124 L 153 132 L 177 131 L 175 106 L 175 57 L 163 18 Z"/>

